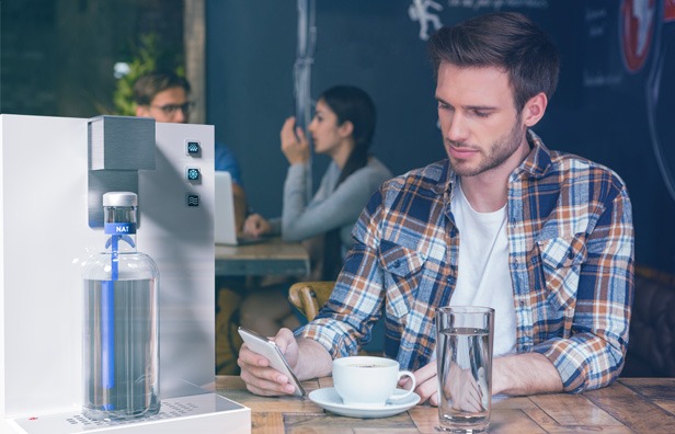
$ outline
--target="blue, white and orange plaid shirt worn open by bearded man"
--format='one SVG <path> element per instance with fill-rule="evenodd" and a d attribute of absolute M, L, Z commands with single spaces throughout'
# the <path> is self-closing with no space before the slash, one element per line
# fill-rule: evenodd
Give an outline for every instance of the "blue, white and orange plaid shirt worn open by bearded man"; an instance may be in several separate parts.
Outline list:
<path fill-rule="evenodd" d="M 531 151 L 508 180 L 507 237 L 516 351 L 556 366 L 564 390 L 581 392 L 619 375 L 633 297 L 633 228 L 621 179 L 588 160 Z M 394 178 L 357 221 L 355 245 L 333 294 L 297 331 L 333 357 L 354 355 L 386 316 L 385 353 L 404 369 L 428 363 L 434 309 L 457 282 L 460 235 L 450 213 L 448 161 Z"/>

